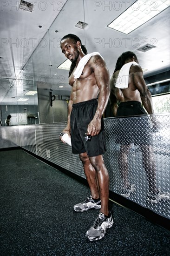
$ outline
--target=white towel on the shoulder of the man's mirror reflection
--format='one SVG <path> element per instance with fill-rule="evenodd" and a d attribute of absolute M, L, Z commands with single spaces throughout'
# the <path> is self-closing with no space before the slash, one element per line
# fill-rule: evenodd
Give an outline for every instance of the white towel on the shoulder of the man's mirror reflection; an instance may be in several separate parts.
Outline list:
<path fill-rule="evenodd" d="M 124 66 L 120 69 L 120 72 L 118 74 L 118 79 L 116 81 L 115 87 L 120 89 L 128 88 L 129 70 L 131 65 L 138 65 L 138 64 L 135 61 L 131 61 L 124 64 Z"/>

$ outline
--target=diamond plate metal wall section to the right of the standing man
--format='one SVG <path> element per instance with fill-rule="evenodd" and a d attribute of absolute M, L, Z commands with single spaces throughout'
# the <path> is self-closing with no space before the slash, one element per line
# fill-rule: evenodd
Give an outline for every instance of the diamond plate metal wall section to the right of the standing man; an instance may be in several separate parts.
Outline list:
<path fill-rule="evenodd" d="M 170 115 L 108 118 L 105 134 L 111 191 L 170 218 Z M 121 168 L 135 189 L 130 195 L 124 194 Z M 150 190 L 157 187 L 154 200 L 149 183 Z"/>

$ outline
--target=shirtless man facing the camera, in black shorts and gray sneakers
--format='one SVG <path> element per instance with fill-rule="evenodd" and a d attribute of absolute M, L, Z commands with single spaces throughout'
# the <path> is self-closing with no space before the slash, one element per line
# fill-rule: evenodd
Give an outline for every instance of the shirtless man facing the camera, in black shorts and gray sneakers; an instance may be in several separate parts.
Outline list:
<path fill-rule="evenodd" d="M 85 235 L 90 241 L 96 241 L 103 238 L 106 229 L 113 225 L 111 212 L 108 209 L 109 175 L 103 160 L 105 152 L 103 114 L 110 95 L 109 71 L 100 54 L 95 54 L 90 57 L 77 77 L 74 73 L 78 63 L 87 54 L 85 46 L 78 36 L 68 34 L 60 41 L 60 47 L 65 57 L 72 61 L 69 72 L 72 91 L 68 104 L 67 126 L 63 132 L 71 136 L 72 153 L 79 154 L 91 190 L 91 196 L 85 202 L 74 205 L 74 210 L 83 212 L 92 208 L 100 209 L 93 226 Z M 85 134 L 92 136 L 91 141 L 85 140 Z M 60 139 L 63 141 L 62 137 Z"/>

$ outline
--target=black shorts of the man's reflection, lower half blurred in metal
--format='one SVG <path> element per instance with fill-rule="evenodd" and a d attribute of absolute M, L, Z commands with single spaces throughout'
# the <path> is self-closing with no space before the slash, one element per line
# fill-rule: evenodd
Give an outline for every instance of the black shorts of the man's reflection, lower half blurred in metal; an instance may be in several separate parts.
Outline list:
<path fill-rule="evenodd" d="M 138 101 L 121 102 L 118 110 L 118 126 L 116 128 L 116 143 L 128 145 L 151 145 L 150 116 Z"/>

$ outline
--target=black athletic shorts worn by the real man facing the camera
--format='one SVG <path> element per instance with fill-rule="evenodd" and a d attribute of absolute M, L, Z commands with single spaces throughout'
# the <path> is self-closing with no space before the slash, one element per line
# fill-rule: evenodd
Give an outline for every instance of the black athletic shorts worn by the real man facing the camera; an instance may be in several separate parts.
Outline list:
<path fill-rule="evenodd" d="M 104 120 L 101 120 L 101 130 L 92 136 L 91 141 L 85 141 L 87 126 L 92 121 L 98 101 L 96 99 L 72 104 L 70 116 L 72 153 L 87 153 L 89 157 L 103 155 L 106 151 Z"/>

